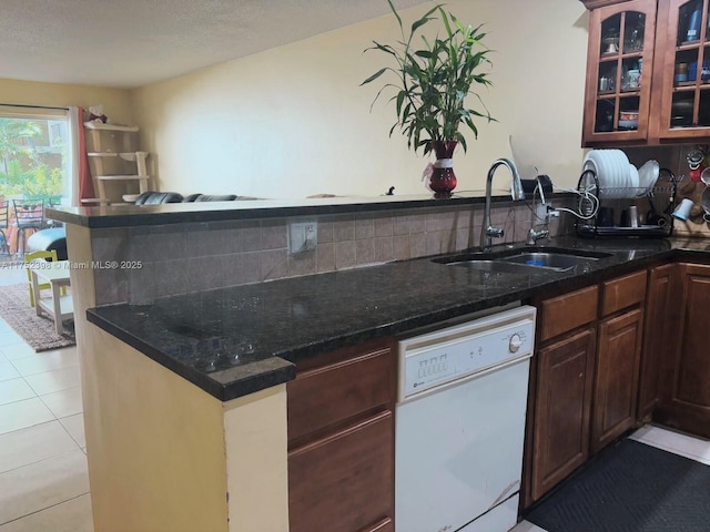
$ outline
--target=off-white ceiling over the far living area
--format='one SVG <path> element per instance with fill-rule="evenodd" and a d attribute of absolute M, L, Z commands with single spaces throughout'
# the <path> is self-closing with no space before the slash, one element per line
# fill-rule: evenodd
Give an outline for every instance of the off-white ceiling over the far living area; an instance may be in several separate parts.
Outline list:
<path fill-rule="evenodd" d="M 135 88 L 389 12 L 386 0 L 1 0 L 0 76 Z M 425 3 L 394 0 L 397 9 Z"/>

